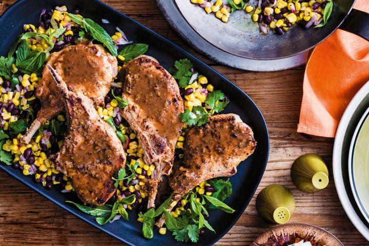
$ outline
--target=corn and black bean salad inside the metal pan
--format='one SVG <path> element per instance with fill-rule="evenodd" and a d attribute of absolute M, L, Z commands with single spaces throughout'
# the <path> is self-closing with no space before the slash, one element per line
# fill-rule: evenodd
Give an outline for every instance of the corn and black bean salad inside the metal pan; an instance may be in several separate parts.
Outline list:
<path fill-rule="evenodd" d="M 191 0 L 209 13 L 227 23 L 234 10 L 244 9 L 251 14 L 251 18 L 259 25 L 262 34 L 269 34 L 274 30 L 283 34 L 290 28 L 299 24 L 305 29 L 322 27 L 327 22 L 333 8 L 333 0 L 258 0 L 256 8 L 245 4 L 244 0 L 229 0 L 223 4 L 221 0 Z"/>

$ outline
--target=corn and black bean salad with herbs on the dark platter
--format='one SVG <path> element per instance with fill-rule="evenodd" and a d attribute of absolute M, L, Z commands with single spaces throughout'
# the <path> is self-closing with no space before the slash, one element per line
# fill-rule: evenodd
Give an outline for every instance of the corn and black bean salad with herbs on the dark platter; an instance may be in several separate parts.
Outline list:
<path fill-rule="evenodd" d="M 84 19 L 79 13 L 78 9 L 69 13 L 66 6 L 55 7 L 50 11 L 43 9 L 38 25 L 25 24 L 25 32 L 10 48 L 8 56 L 0 57 L 0 161 L 14 169 L 19 169 L 26 176 L 31 175 L 36 183 L 40 183 L 46 189 L 59 186 L 62 193 L 74 192 L 73 183 L 55 168 L 51 155 L 57 153 L 63 144 L 68 129 L 65 113 L 46 120 L 28 145 L 20 141 L 22 134 L 26 132 L 41 107 L 40 101 L 35 96 L 35 90 L 50 53 L 75 45 L 83 39 L 96 40 L 117 56 L 118 70 L 121 70 L 125 68 L 126 61 L 148 50 L 145 44 L 128 45 L 132 42 L 118 27 L 117 32 L 109 36 L 93 20 Z M 108 23 L 108 20 L 103 19 L 102 22 Z M 98 31 L 89 33 L 87 25 Z M 128 46 L 118 53 L 119 45 Z M 177 60 L 170 72 L 179 84 L 185 105 L 185 112 L 181 114 L 183 130 L 175 149 L 175 162 L 180 163 L 183 159 L 182 149 L 188 131 L 195 125 L 205 124 L 210 115 L 222 111 L 228 105 L 229 99 L 221 91 L 214 90 L 214 86 L 209 83 L 207 77 L 199 75 L 188 59 Z M 143 150 L 136 134 L 119 114 L 119 109 L 129 103 L 119 96 L 121 94 L 122 79 L 116 78 L 112 83 L 112 90 L 105 96 L 105 107 L 96 108 L 99 116 L 116 129 L 127 156 L 124 170 L 119 171 L 118 177 L 112 177 L 117 191 L 107 204 L 101 207 L 90 208 L 78 202 L 67 202 L 95 216 L 99 224 L 113 222 L 120 217 L 128 220 L 127 210 L 136 210 L 137 220 L 144 223 L 142 229 L 144 236 L 151 238 L 153 223 L 150 223 L 150 227 L 147 225 L 153 218 L 148 214 L 150 211 L 146 211 L 147 183 L 155 166 L 145 163 Z M 206 227 L 198 226 L 199 219 L 209 219 L 208 209 L 216 209 L 202 196 L 212 196 L 223 201 L 231 193 L 232 185 L 229 179 L 212 179 L 200 183 L 178 202 L 171 212 L 171 218 L 181 218 L 182 222 L 187 221 L 182 223 L 181 228 L 172 232 L 175 239 L 196 242 L 205 228 L 214 231 L 207 222 L 203 222 Z M 159 211 L 162 213 L 163 208 L 168 207 L 170 198 L 170 192 L 163 193 L 160 197 L 163 201 L 162 206 L 155 213 Z M 201 204 L 202 209 L 198 210 L 197 214 L 192 209 L 193 202 Z M 226 207 L 228 212 L 233 212 L 231 208 Z M 160 213 L 156 214 L 158 215 Z M 166 234 L 166 230 L 161 228 L 159 234 Z"/>

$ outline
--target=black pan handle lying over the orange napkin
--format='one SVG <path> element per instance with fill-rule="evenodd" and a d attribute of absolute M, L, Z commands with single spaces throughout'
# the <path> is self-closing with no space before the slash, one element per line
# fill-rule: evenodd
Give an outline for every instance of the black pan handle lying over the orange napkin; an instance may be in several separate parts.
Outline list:
<path fill-rule="evenodd" d="M 369 13 L 352 9 L 339 28 L 369 41 Z"/>

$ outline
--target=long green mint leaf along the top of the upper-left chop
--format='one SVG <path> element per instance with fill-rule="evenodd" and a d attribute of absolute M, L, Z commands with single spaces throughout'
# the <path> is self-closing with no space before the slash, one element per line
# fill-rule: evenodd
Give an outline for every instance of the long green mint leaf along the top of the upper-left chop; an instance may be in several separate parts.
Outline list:
<path fill-rule="evenodd" d="M 103 27 L 98 25 L 92 19 L 84 18 L 80 15 L 68 13 L 68 16 L 73 20 L 73 22 L 85 27 L 86 32 L 91 34 L 91 36 L 98 42 L 103 43 L 109 49 L 110 53 L 112 53 L 112 55 L 118 55 L 116 47 L 113 43 L 113 39 Z"/>

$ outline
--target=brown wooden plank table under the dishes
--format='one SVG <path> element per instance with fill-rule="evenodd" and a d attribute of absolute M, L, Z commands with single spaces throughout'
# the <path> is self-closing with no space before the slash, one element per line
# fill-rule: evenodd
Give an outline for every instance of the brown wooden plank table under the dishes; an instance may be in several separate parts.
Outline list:
<path fill-rule="evenodd" d="M 0 1 L 0 13 L 14 0 Z M 161 15 L 154 0 L 104 1 L 206 61 L 247 92 L 264 114 L 270 133 L 267 170 L 254 198 L 235 226 L 217 245 L 249 245 L 271 227 L 255 210 L 256 194 L 278 183 L 291 189 L 296 211 L 290 222 L 310 223 L 333 233 L 345 245 L 369 245 L 345 215 L 333 182 L 316 194 L 302 193 L 290 177 L 292 162 L 317 153 L 332 168 L 333 139 L 296 132 L 304 67 L 280 72 L 248 72 L 214 63 L 181 40 Z M 3 34 L 4 35 L 4 34 Z M 0 245 L 121 245 L 116 239 L 70 215 L 52 202 L 0 172 Z"/>

